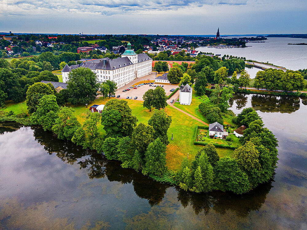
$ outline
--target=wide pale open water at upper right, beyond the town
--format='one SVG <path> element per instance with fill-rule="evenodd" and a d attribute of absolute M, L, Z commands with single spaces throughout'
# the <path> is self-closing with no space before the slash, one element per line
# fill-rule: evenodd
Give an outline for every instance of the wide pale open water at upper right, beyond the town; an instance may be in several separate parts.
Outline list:
<path fill-rule="evenodd" d="M 307 43 L 306 38 L 268 37 L 264 43 L 247 43 L 246 48 L 196 48 L 202 52 L 246 57 L 260 62 L 269 62 L 291 70 L 307 68 L 307 45 L 288 45 L 288 43 Z"/>

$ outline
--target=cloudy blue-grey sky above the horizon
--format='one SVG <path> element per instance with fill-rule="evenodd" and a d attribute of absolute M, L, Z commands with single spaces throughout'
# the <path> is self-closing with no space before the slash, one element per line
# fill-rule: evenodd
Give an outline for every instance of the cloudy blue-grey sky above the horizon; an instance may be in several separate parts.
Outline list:
<path fill-rule="evenodd" d="M 307 33 L 307 0 L 0 0 L 0 32 Z"/>

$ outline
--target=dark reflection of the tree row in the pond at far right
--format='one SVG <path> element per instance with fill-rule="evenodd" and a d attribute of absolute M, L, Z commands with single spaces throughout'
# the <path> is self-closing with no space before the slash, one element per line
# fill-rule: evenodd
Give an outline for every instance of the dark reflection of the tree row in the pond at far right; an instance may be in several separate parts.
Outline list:
<path fill-rule="evenodd" d="M 300 98 L 275 95 L 253 95 L 251 97 L 253 109 L 264 113 L 293 113 L 300 108 Z"/>

